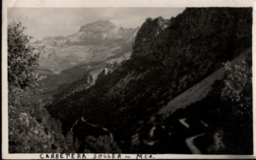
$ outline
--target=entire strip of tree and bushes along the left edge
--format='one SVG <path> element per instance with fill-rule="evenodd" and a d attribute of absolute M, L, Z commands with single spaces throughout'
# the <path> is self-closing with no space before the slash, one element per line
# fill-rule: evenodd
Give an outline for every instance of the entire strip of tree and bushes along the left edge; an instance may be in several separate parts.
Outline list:
<path fill-rule="evenodd" d="M 31 96 L 43 77 L 32 71 L 43 47 L 33 48 L 22 23 L 8 26 L 9 152 L 72 151 L 72 141 L 61 133 L 38 97 Z M 71 138 L 72 139 L 72 138 Z"/>

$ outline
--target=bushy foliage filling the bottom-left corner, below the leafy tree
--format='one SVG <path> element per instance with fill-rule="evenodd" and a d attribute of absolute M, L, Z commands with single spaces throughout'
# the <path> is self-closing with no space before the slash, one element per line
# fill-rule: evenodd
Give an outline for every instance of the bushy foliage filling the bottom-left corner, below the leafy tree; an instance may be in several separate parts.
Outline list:
<path fill-rule="evenodd" d="M 26 105 L 26 106 L 25 106 Z M 21 107 L 22 106 L 22 107 Z M 41 109 L 40 109 L 41 108 Z M 72 152 L 71 133 L 65 137 L 61 123 L 49 116 L 39 104 L 9 105 L 9 151 L 11 153 Z M 32 113 L 32 110 L 35 113 Z M 42 114 L 37 115 L 36 112 Z"/>

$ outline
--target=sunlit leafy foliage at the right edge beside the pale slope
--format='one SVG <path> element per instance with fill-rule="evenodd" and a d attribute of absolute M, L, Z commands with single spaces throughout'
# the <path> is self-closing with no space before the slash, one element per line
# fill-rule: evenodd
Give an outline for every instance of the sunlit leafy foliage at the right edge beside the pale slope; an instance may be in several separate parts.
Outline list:
<path fill-rule="evenodd" d="M 224 64 L 226 71 L 222 98 L 232 104 L 235 115 L 249 115 L 252 106 L 252 71 L 251 66 L 243 61 L 238 65 Z"/>

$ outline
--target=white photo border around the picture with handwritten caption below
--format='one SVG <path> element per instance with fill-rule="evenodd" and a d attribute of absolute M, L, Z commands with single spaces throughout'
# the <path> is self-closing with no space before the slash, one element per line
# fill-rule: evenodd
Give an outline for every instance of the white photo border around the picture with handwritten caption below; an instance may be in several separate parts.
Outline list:
<path fill-rule="evenodd" d="M 3 0 L 2 2 L 2 158 L 3 159 L 40 159 L 40 154 L 9 154 L 8 153 L 8 81 L 7 81 L 7 8 L 90 8 L 90 7 L 252 7 L 253 8 L 253 42 L 255 42 L 255 3 L 254 0 Z M 10 10 L 10 12 L 12 12 Z M 255 46 L 252 46 L 253 53 Z M 253 62 L 255 56 L 252 54 Z M 254 64 L 254 63 L 253 63 Z M 253 65 L 253 76 L 255 65 Z M 255 91 L 255 77 L 253 77 L 253 92 Z M 253 94 L 255 99 L 255 94 Z M 254 101 L 253 101 L 254 108 Z M 255 109 L 255 108 L 254 108 Z M 254 111 L 253 109 L 253 111 Z M 253 115 L 255 112 L 253 112 Z M 255 124 L 253 116 L 253 124 Z M 255 133 L 253 125 L 253 155 L 191 155 L 191 154 L 152 154 L 155 159 L 252 159 L 255 156 Z M 45 154 L 44 154 L 45 155 Z M 98 155 L 98 154 L 97 154 Z M 147 154 L 143 154 L 147 155 Z M 148 154 L 149 155 L 149 154 Z M 93 159 L 95 154 L 86 154 L 87 159 Z M 136 158 L 136 154 L 121 154 L 121 158 Z M 65 156 L 64 156 L 65 157 Z M 50 158 L 49 158 L 50 159 Z M 69 158 L 63 159 L 72 159 Z M 101 159 L 107 159 L 102 157 Z M 112 159 L 112 158 L 110 158 Z"/>

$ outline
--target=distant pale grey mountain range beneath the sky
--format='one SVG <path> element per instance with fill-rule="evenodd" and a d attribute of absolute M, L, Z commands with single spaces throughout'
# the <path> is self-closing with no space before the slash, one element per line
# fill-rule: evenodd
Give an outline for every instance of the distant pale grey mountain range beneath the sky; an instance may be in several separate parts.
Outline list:
<path fill-rule="evenodd" d="M 61 72 L 88 62 L 101 62 L 107 58 L 131 51 L 138 28 L 116 27 L 108 21 L 97 21 L 82 26 L 68 36 L 44 37 L 36 45 L 44 45 L 39 67 Z"/>

